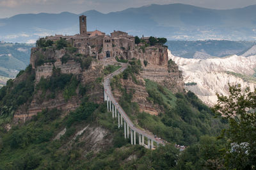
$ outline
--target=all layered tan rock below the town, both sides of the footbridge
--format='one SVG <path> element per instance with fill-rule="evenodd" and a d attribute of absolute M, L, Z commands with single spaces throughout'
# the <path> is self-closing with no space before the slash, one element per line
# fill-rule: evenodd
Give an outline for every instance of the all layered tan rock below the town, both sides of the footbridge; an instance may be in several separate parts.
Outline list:
<path fill-rule="evenodd" d="M 88 69 L 83 69 L 81 63 L 74 59 L 68 59 L 67 62 L 61 62 L 61 58 L 67 55 L 69 54 L 65 49 L 54 50 L 49 48 L 43 50 L 38 47 L 31 49 L 30 64 L 35 70 L 35 87 L 42 77 L 47 79 L 52 76 L 52 70 L 60 68 L 61 73 L 72 73 L 73 75 L 76 75 L 76 77 L 79 77 L 80 84 L 86 86 L 86 95 L 90 96 L 90 100 L 97 103 L 103 102 L 102 86 L 100 86 L 100 83 L 96 84 L 95 82 L 97 78 L 103 76 L 102 70 L 104 66 L 108 64 L 113 65 L 113 63 L 116 63 L 115 59 L 110 58 L 108 59 L 108 62 L 105 62 L 105 60 L 92 61 L 92 64 Z M 132 102 L 137 102 L 141 111 L 149 112 L 150 114 L 158 114 L 161 112 L 156 105 L 150 104 L 150 102 L 147 101 L 148 93 L 145 89 L 144 79 L 156 81 L 172 90 L 173 93 L 184 91 L 182 73 L 174 62 L 168 62 L 167 47 L 146 47 L 145 50 L 137 48 L 129 51 L 128 56 L 129 59 L 140 59 L 143 70 L 136 78 L 140 84 L 135 84 L 131 79 L 128 79 L 123 80 L 122 85 L 129 90 L 135 90 Z M 44 58 L 44 64 L 36 66 L 42 57 Z M 20 76 L 17 81 L 23 78 Z M 64 113 L 67 113 L 76 109 L 81 102 L 81 97 L 79 97 L 79 95 L 75 95 L 74 97 L 65 100 L 63 91 L 57 91 L 54 98 L 47 98 L 51 93 L 52 92 L 49 90 L 43 92 L 42 90 L 35 88 L 35 94 L 33 95 L 31 102 L 19 107 L 15 112 L 14 121 L 29 120 L 32 116 L 46 108 L 57 108 L 61 109 Z M 76 93 L 79 93 L 78 87 Z M 122 94 L 115 91 L 115 95 L 120 97 Z"/>

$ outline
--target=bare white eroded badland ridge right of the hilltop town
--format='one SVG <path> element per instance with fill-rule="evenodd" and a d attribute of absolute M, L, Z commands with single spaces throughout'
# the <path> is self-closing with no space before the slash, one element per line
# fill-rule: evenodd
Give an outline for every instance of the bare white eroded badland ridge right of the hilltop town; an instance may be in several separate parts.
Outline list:
<path fill-rule="evenodd" d="M 228 56 L 226 58 L 186 59 L 172 55 L 169 58 L 175 61 L 182 70 L 184 82 L 195 82 L 186 86 L 206 104 L 216 104 L 216 93 L 228 95 L 228 83 L 241 84 L 242 88 L 249 86 L 254 89 L 256 79 L 253 78 L 256 67 L 256 56 Z"/>

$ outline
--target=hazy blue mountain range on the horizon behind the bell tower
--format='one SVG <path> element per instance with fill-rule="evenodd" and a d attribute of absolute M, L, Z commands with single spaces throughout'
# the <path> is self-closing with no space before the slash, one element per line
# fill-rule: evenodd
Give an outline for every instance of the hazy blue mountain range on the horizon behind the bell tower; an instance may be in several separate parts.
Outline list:
<path fill-rule="evenodd" d="M 138 36 L 163 36 L 169 40 L 255 40 L 256 5 L 234 10 L 212 10 L 186 4 L 128 8 L 120 12 L 81 13 L 88 16 L 88 30 L 106 33 L 127 31 Z M 81 15 L 79 14 L 79 15 Z M 21 14 L 0 19 L 0 40 L 33 42 L 38 36 L 79 32 L 74 13 Z"/>

